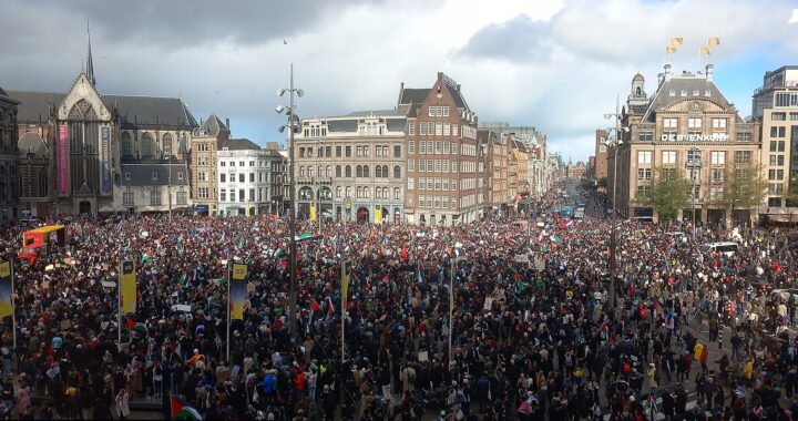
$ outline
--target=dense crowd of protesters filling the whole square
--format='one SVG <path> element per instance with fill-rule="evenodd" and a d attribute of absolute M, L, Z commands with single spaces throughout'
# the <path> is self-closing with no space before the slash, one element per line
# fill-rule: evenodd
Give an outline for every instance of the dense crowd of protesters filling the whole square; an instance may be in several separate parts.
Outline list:
<path fill-rule="evenodd" d="M 694 240 L 667 234 L 686 225 L 624 220 L 611 290 L 612 222 L 562 220 L 563 187 L 530 219 L 325 222 L 293 256 L 294 338 L 282 219 L 50 218 L 66 223 L 64 246 L 14 259 L 0 408 L 117 419 L 151 401 L 168 418 L 174 396 L 206 419 L 791 419 L 796 304 L 769 290 L 796 287 L 784 235 L 699 228 Z M 4 233 L 0 259 L 23 229 Z M 730 256 L 699 247 L 732 237 Z M 136 264 L 137 297 L 117 318 L 121 259 Z M 228 328 L 232 261 L 249 270 Z"/>

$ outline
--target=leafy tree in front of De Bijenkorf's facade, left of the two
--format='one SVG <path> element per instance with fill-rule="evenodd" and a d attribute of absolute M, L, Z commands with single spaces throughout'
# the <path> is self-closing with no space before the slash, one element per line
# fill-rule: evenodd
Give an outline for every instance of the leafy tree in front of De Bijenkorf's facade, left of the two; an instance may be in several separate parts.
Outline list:
<path fill-rule="evenodd" d="M 651 206 L 659 220 L 673 220 L 690 203 L 690 181 L 678 168 L 656 168 L 655 177 L 641 202 Z"/>

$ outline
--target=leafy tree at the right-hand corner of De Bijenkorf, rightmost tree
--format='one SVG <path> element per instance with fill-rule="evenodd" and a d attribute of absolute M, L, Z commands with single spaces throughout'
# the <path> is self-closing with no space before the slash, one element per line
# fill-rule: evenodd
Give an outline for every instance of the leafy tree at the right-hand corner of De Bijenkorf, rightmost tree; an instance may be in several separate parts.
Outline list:
<path fill-rule="evenodd" d="M 735 162 L 727 167 L 724 202 L 733 216 L 735 210 L 758 208 L 767 194 L 768 182 L 761 165 Z"/>

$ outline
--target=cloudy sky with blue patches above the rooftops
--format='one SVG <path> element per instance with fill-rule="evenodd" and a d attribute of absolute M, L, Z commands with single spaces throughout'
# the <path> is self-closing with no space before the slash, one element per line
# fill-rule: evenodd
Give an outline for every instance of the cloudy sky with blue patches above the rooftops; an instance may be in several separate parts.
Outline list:
<path fill-rule="evenodd" d="M 400 82 L 462 85 L 480 122 L 536 126 L 565 158 L 586 160 L 636 72 L 655 90 L 664 48 L 674 71 L 703 66 L 740 110 L 767 70 L 798 64 L 796 1 L 708 0 L 4 0 L 0 86 L 66 91 L 91 22 L 98 89 L 181 96 L 200 119 L 229 117 L 233 135 L 282 141 L 274 107 L 295 81 L 300 116 L 391 109 Z M 285 40 L 285 42 L 284 42 Z"/>

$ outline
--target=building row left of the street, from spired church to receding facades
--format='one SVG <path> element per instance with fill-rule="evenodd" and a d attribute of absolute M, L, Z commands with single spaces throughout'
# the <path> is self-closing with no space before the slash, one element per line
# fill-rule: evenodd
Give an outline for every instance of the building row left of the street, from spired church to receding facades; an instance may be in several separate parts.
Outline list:
<path fill-rule="evenodd" d="M 388 110 L 301 120 L 297 215 L 451 225 L 518 209 L 564 174 L 534 127 L 478 125 L 443 73 L 400 86 Z M 23 215 L 194 212 L 280 214 L 287 154 L 200 122 L 178 97 L 104 95 L 91 45 L 66 93 L 0 90 L 0 206 Z"/>

